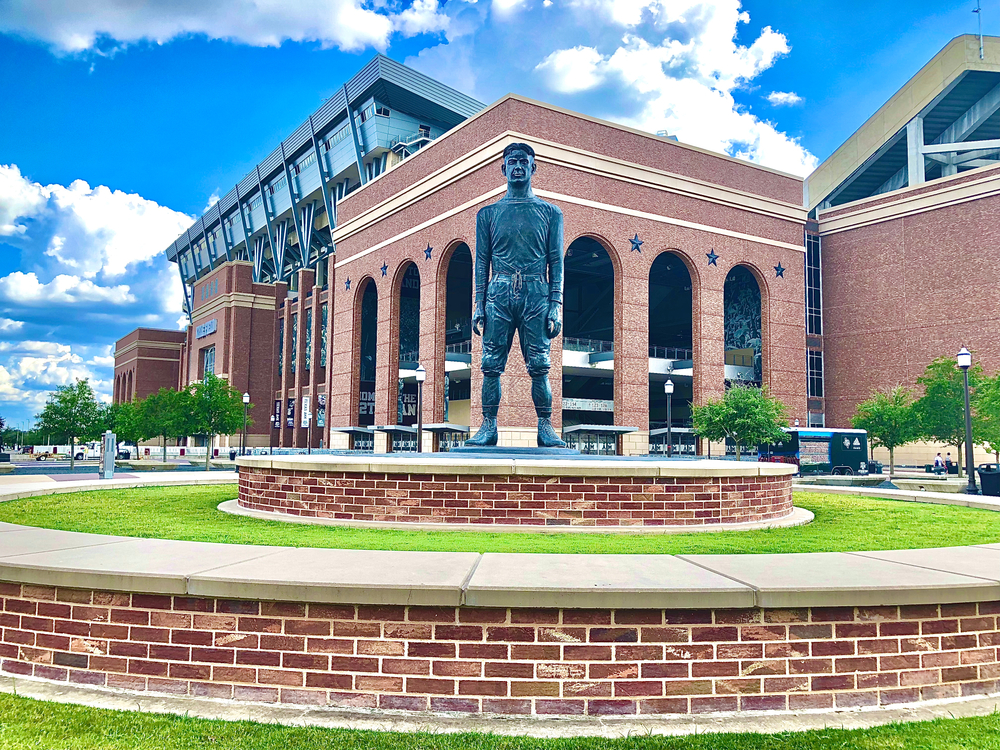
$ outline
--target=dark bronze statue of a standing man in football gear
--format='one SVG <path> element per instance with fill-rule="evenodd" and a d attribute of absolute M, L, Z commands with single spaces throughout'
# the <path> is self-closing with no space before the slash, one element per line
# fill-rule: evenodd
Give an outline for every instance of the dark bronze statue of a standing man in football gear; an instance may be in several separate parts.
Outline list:
<path fill-rule="evenodd" d="M 500 171 L 507 194 L 476 214 L 476 307 L 472 331 L 483 337 L 483 424 L 466 445 L 497 444 L 500 375 L 517 331 L 531 376 L 538 445 L 565 447 L 552 428 L 549 347 L 562 330 L 562 211 L 531 191 L 535 151 L 512 143 Z"/>

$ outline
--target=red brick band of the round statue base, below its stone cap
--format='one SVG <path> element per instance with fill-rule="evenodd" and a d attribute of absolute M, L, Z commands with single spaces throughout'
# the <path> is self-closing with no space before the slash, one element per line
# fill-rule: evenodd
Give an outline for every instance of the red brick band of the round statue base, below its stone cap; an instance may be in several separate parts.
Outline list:
<path fill-rule="evenodd" d="M 792 478 L 412 474 L 241 468 L 250 510 L 341 521 L 701 526 L 784 518 Z"/>

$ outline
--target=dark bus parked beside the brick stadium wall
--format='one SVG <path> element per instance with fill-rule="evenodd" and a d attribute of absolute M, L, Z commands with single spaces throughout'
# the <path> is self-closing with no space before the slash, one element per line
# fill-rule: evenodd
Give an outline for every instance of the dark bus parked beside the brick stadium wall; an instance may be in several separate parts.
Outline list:
<path fill-rule="evenodd" d="M 781 443 L 758 446 L 761 461 L 795 464 L 800 474 L 867 474 L 865 430 L 785 430 Z"/>

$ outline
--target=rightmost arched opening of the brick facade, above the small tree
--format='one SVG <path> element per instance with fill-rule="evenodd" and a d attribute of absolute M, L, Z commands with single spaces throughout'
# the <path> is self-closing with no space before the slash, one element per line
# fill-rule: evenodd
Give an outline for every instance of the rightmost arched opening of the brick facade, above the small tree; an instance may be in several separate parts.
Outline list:
<path fill-rule="evenodd" d="M 760 284 L 746 266 L 735 266 L 723 287 L 726 385 L 764 382 Z"/>

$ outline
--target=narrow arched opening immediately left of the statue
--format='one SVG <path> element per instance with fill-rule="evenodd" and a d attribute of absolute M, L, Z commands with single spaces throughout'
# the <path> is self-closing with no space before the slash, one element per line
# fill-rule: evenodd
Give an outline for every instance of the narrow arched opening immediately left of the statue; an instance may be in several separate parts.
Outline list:
<path fill-rule="evenodd" d="M 444 421 L 468 428 L 472 403 L 472 252 L 464 242 L 448 260 L 445 279 Z M 438 449 L 448 450 L 468 437 L 463 431 L 442 431 Z"/>

